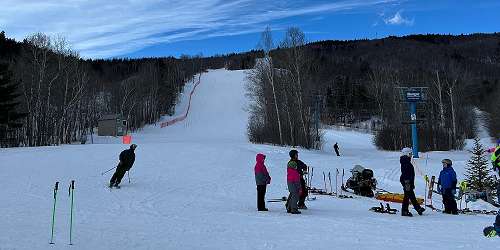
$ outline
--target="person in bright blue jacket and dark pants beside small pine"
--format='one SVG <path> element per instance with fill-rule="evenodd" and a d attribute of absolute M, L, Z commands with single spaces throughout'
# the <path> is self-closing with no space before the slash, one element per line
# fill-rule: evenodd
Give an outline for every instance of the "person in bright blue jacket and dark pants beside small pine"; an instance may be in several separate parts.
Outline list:
<path fill-rule="evenodd" d="M 455 201 L 457 174 L 453 169 L 450 159 L 444 159 L 443 170 L 439 173 L 438 192 L 443 196 L 444 211 L 447 214 L 458 214 L 457 202 Z"/>

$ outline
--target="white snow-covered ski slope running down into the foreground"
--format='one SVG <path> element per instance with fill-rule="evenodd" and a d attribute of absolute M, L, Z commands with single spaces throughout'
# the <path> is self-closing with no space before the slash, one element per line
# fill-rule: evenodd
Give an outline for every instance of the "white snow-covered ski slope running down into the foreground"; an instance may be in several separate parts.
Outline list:
<path fill-rule="evenodd" d="M 328 196 L 308 202 L 302 215 L 287 214 L 283 203 L 267 203 L 269 212 L 257 212 L 255 155 L 267 155 L 273 178 L 266 198 L 279 198 L 287 195 L 290 148 L 248 142 L 244 82 L 245 71 L 204 73 L 184 122 L 133 134 L 139 146 L 136 163 L 131 183 L 125 176 L 120 190 L 106 188 L 112 173 L 101 176 L 127 148 L 119 139 L 1 149 L 0 249 L 498 249 L 498 240 L 482 236 L 494 216 L 427 211 L 406 218 L 368 211 L 378 205 L 373 199 Z M 181 98 L 177 114 L 184 112 L 186 100 L 186 95 Z M 323 187 L 323 171 L 332 173 L 335 185 L 336 168 L 345 168 L 347 179 L 347 170 L 361 164 L 374 170 L 381 188 L 401 190 L 398 153 L 377 151 L 369 134 L 339 129 L 325 133 L 323 151 L 299 150 L 300 158 L 314 167 L 313 186 Z M 331 152 L 336 141 L 342 157 Z M 462 177 L 469 157 L 465 151 L 422 154 L 417 172 L 438 175 L 445 157 L 454 160 Z M 68 246 L 67 188 L 72 179 L 74 245 Z M 56 244 L 49 245 L 55 181 L 61 182 Z M 421 176 L 416 186 L 422 196 Z M 437 195 L 434 202 L 441 207 Z"/>

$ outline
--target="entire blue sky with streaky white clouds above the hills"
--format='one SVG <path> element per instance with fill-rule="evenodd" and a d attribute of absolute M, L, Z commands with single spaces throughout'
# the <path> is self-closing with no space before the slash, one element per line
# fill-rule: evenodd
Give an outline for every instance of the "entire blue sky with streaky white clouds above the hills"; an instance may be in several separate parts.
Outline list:
<path fill-rule="evenodd" d="M 0 0 L 0 30 L 65 37 L 84 58 L 243 52 L 269 26 L 275 44 L 408 34 L 500 32 L 498 0 Z"/>

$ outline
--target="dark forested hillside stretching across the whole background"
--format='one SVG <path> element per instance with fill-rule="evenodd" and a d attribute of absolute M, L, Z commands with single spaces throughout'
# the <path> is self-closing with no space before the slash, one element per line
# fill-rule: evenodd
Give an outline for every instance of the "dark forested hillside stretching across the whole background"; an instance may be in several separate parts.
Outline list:
<path fill-rule="evenodd" d="M 275 69 L 291 68 L 295 52 L 285 47 L 270 52 Z M 135 130 L 170 113 L 184 82 L 196 73 L 251 69 L 256 58 L 264 57 L 263 51 L 255 50 L 204 58 L 83 60 L 68 48 L 64 40 L 43 34 L 17 42 L 0 33 L 0 63 L 8 65 L 23 94 L 16 109 L 28 113 L 22 129 L 5 130 L 2 137 L 9 139 L 4 142 L 68 143 L 92 132 L 107 113 L 122 114 Z M 463 140 L 475 134 L 472 107 L 490 114 L 500 108 L 500 33 L 318 41 L 297 51 L 301 89 L 296 93 L 308 126 L 319 95 L 323 123 L 359 126 L 377 117 L 371 127 L 380 148 L 410 145 L 408 125 L 402 123 L 407 119 L 405 105 L 398 102 L 396 87 L 428 87 L 429 98 L 419 117 L 423 150 L 461 148 Z M 290 83 L 297 77 L 284 76 L 276 79 L 277 84 L 292 89 Z M 268 101 L 272 106 L 273 100 Z M 490 117 L 493 137 L 500 137 L 497 117 Z M 269 119 L 267 133 L 277 134 L 272 122 L 276 118 Z"/>

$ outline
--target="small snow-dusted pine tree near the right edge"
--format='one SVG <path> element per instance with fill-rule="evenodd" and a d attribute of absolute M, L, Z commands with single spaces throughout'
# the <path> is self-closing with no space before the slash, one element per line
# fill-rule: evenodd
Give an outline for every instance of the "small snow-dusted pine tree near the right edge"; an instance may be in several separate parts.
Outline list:
<path fill-rule="evenodd" d="M 471 190 L 484 192 L 495 191 L 495 180 L 489 168 L 489 161 L 486 157 L 486 150 L 479 141 L 479 138 L 474 138 L 474 148 L 469 150 L 472 153 L 470 160 L 466 166 L 466 178 Z"/>

